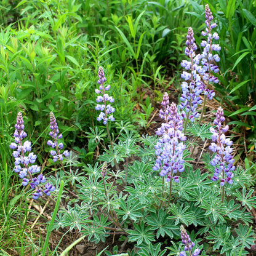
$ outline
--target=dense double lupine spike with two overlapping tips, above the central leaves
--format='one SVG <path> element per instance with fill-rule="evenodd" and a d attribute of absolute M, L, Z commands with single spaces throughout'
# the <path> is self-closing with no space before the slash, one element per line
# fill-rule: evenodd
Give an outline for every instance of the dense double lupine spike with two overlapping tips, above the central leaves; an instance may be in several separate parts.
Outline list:
<path fill-rule="evenodd" d="M 176 104 L 172 103 L 170 106 L 168 104 L 169 97 L 165 93 L 162 100 L 162 110 L 159 115 L 166 122 L 162 123 L 162 126 L 156 131 L 156 134 L 161 135 L 161 137 L 154 146 L 157 159 L 153 170 L 160 170 L 159 175 L 162 177 L 167 176 L 167 182 L 174 178 L 174 181 L 178 183 L 178 176 L 174 176 L 174 174 L 184 170 L 183 151 L 186 146 L 183 141 L 186 140 L 186 137 L 182 133 L 183 122 L 178 114 Z"/>

